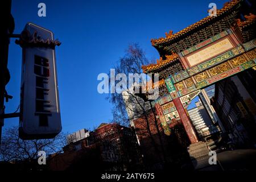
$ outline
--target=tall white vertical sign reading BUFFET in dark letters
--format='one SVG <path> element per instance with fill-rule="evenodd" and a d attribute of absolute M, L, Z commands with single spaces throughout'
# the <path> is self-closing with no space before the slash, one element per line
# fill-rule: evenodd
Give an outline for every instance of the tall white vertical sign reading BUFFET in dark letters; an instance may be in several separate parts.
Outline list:
<path fill-rule="evenodd" d="M 28 23 L 16 42 L 23 52 L 19 136 L 53 138 L 61 131 L 53 33 Z"/>

